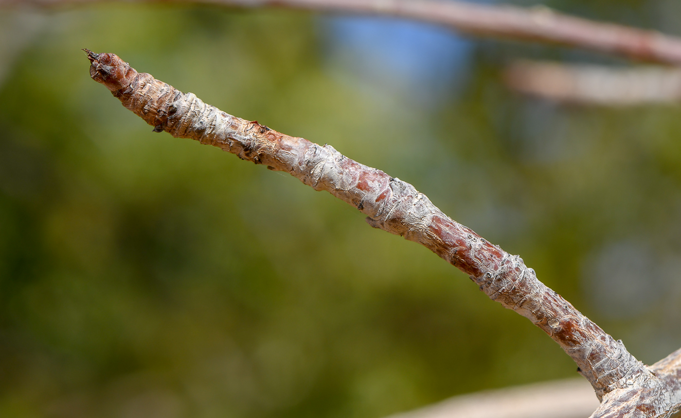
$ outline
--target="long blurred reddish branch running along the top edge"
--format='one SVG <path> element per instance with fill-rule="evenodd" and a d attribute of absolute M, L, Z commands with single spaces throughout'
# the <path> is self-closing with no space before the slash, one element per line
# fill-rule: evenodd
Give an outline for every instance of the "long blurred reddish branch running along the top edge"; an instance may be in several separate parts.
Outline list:
<path fill-rule="evenodd" d="M 0 6 L 96 3 L 106 0 L 0 0 Z M 555 43 L 656 63 L 681 64 L 681 39 L 656 31 L 594 22 L 510 5 L 481 5 L 445 0 L 128 0 L 202 3 L 238 7 L 290 7 L 304 10 L 383 14 L 441 24 L 471 35 Z"/>

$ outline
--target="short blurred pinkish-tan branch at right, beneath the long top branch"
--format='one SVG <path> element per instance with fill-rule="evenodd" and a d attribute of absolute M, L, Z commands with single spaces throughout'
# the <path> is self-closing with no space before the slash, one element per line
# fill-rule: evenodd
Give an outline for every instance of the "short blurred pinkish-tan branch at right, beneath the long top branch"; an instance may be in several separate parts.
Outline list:
<path fill-rule="evenodd" d="M 614 68 L 520 60 L 505 71 L 512 90 L 577 105 L 631 106 L 681 101 L 681 69 Z"/>

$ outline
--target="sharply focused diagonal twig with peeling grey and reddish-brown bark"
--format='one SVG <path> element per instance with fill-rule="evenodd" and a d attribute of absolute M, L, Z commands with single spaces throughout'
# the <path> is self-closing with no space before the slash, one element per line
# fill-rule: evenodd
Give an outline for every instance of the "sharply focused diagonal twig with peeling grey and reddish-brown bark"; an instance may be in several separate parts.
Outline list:
<path fill-rule="evenodd" d="M 604 405 L 613 406 L 608 415 L 599 417 L 669 417 L 678 411 L 679 353 L 647 368 L 621 341 L 541 283 L 522 258 L 447 217 L 411 184 L 355 162 L 331 145 L 320 146 L 231 116 L 193 93 L 138 73 L 114 54 L 85 52 L 93 80 L 104 84 L 123 106 L 154 126 L 155 132 L 165 130 L 173 137 L 195 139 L 242 160 L 285 171 L 353 205 L 367 215 L 370 226 L 422 244 L 470 275 L 492 300 L 530 319 L 570 355 L 599 399 L 605 396 Z M 670 379 L 677 379 L 671 391 L 665 386 Z M 635 395 L 638 400 L 650 400 L 637 406 L 649 409 L 612 415 Z"/>

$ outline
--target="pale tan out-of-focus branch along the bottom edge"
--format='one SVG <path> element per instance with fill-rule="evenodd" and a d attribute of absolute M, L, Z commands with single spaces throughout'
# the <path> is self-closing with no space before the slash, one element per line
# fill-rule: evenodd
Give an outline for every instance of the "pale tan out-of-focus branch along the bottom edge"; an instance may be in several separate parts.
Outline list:
<path fill-rule="evenodd" d="M 599 402 L 582 379 L 565 379 L 454 396 L 388 418 L 584 418 Z"/>

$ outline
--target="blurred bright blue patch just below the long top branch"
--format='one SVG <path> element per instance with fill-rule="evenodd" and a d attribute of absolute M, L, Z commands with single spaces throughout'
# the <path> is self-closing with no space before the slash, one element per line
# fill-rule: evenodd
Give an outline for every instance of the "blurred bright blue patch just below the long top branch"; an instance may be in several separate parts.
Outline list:
<path fill-rule="evenodd" d="M 439 103 L 466 78 L 473 43 L 431 24 L 382 17 L 321 18 L 324 54 L 362 84 Z"/>

